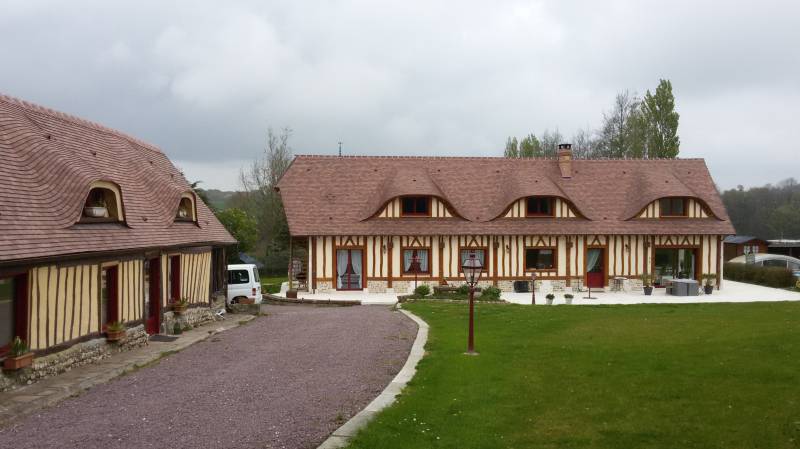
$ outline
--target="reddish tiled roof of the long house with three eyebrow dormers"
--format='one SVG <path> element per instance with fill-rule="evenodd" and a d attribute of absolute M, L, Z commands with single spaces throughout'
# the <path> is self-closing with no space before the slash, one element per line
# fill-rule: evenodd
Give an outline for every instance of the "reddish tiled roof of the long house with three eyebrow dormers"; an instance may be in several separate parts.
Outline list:
<path fill-rule="evenodd" d="M 733 234 L 702 159 L 572 161 L 499 157 L 297 156 L 278 184 L 292 235 Z M 376 218 L 387 201 L 425 194 L 454 218 Z M 533 195 L 569 201 L 580 218 L 503 218 Z M 699 199 L 714 218 L 638 219 L 666 196 Z"/>

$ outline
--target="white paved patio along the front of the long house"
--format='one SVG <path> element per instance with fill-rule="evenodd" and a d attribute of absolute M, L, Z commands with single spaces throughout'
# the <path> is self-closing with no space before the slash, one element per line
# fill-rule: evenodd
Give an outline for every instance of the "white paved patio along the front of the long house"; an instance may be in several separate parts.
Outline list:
<path fill-rule="evenodd" d="M 553 304 L 564 304 L 564 293 L 569 293 L 571 289 L 564 292 L 554 292 L 556 299 Z M 279 295 L 286 295 L 286 284 Z M 545 295 L 548 291 L 536 292 L 536 304 L 546 304 Z M 592 296 L 596 299 L 584 299 L 588 292 L 574 292 L 575 298 L 573 305 L 584 304 L 691 304 L 699 302 L 759 302 L 759 301 L 800 301 L 800 293 L 783 290 L 779 288 L 762 287 L 760 285 L 745 284 L 742 282 L 723 281 L 722 290 L 714 290 L 711 295 L 700 296 L 669 296 L 663 288 L 653 290 L 651 296 L 645 296 L 642 292 L 603 292 L 592 290 Z M 298 297 L 307 299 L 339 300 L 339 301 L 361 301 L 362 304 L 395 304 L 397 295 L 405 293 L 364 293 L 360 291 L 334 291 L 327 293 L 306 293 L 299 292 Z M 515 304 L 530 304 L 530 293 L 503 293 L 502 298 Z"/>

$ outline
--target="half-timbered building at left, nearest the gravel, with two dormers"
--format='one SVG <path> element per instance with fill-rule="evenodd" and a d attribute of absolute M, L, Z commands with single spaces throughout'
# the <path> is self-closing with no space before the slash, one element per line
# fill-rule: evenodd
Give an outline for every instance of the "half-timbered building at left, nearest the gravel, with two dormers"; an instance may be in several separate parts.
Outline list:
<path fill-rule="evenodd" d="M 208 306 L 235 243 L 153 145 L 0 95 L 0 359 Z"/>

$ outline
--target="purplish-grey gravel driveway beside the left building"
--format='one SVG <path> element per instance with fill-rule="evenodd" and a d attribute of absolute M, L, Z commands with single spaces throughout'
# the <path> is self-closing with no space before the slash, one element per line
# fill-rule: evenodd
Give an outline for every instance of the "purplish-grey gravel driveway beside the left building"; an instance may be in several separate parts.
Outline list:
<path fill-rule="evenodd" d="M 0 429 L 0 447 L 313 448 L 391 381 L 417 331 L 382 306 L 265 310 Z"/>

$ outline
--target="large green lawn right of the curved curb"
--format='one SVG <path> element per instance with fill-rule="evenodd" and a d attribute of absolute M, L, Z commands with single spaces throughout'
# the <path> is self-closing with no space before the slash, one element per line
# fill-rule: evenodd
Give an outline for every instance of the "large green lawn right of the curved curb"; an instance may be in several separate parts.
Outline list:
<path fill-rule="evenodd" d="M 427 355 L 353 448 L 797 448 L 800 303 L 404 305 Z"/>

